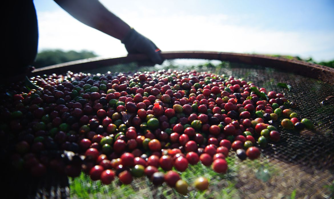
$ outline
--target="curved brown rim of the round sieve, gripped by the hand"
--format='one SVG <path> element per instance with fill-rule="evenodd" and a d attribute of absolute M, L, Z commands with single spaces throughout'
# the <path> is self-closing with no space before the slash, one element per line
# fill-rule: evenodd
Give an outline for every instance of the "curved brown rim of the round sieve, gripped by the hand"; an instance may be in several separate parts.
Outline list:
<path fill-rule="evenodd" d="M 272 57 L 267 55 L 254 55 L 242 53 L 211 52 L 211 51 L 170 51 L 162 52 L 162 57 L 169 59 L 207 59 L 229 61 L 235 63 L 262 65 L 280 70 L 319 79 L 323 82 L 334 84 L 334 69 L 318 64 L 313 64 L 300 60 L 291 60 L 282 57 Z M 102 68 L 116 64 L 126 64 L 136 61 L 147 61 L 148 57 L 144 54 L 130 54 L 121 57 L 95 57 L 77 60 L 52 66 L 47 66 L 33 70 L 29 76 L 44 74 L 63 74 L 67 71 L 80 72 L 91 68 Z"/>

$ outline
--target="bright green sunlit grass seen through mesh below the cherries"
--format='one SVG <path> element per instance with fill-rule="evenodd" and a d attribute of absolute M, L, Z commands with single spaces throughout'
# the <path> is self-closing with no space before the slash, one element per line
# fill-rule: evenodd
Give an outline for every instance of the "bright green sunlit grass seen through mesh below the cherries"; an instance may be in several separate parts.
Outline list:
<path fill-rule="evenodd" d="M 234 154 L 226 158 L 228 170 L 226 174 L 218 174 L 211 167 L 201 163 L 189 165 L 185 172 L 179 172 L 181 179 L 188 183 L 188 195 L 180 195 L 174 188 L 166 184 L 154 186 L 147 177 L 134 178 L 129 185 L 122 184 L 116 178 L 110 185 L 103 185 L 100 181 L 92 181 L 84 173 L 69 180 L 70 196 L 73 198 L 240 198 L 241 191 L 237 188 L 240 172 L 251 171 L 249 175 L 255 178 L 259 169 L 267 169 L 269 175 L 278 174 L 269 162 L 260 160 L 245 160 L 240 162 Z M 159 168 L 159 171 L 163 171 Z M 166 172 L 165 172 L 166 173 Z M 206 191 L 198 191 L 193 182 L 203 176 L 209 180 Z"/>

